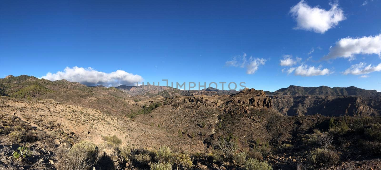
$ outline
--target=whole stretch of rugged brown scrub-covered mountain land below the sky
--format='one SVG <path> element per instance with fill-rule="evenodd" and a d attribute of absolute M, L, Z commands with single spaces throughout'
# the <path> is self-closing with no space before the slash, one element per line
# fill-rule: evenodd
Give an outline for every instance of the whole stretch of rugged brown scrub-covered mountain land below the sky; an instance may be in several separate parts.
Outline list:
<path fill-rule="evenodd" d="M 372 90 L 107 88 L 22 75 L 0 79 L 0 92 L 2 169 L 381 168 Z"/>

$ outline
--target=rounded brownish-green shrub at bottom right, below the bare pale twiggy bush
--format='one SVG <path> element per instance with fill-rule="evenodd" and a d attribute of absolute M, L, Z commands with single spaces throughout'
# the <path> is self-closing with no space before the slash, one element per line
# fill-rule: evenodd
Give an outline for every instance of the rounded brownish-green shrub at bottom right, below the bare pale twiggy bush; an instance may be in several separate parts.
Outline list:
<path fill-rule="evenodd" d="M 316 149 L 311 151 L 311 162 L 319 167 L 335 165 L 339 162 L 339 155 L 335 151 Z"/>

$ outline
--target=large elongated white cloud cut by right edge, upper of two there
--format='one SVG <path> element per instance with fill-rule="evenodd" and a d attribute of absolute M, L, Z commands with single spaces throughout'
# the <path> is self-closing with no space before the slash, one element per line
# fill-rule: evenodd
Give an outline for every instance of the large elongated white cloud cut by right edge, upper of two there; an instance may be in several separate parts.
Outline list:
<path fill-rule="evenodd" d="M 381 57 L 381 34 L 362 38 L 342 38 L 336 42 L 336 46 L 330 47 L 330 52 L 323 57 L 323 60 L 337 57 L 353 60 L 356 54 L 378 54 Z"/>

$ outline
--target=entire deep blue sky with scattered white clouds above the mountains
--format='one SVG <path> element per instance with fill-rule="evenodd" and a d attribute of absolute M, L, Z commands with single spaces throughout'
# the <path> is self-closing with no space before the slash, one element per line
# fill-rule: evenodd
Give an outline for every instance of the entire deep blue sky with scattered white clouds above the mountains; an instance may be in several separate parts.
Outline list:
<path fill-rule="evenodd" d="M 0 77 L 381 91 L 380 7 L 380 0 L 3 0 Z"/>

